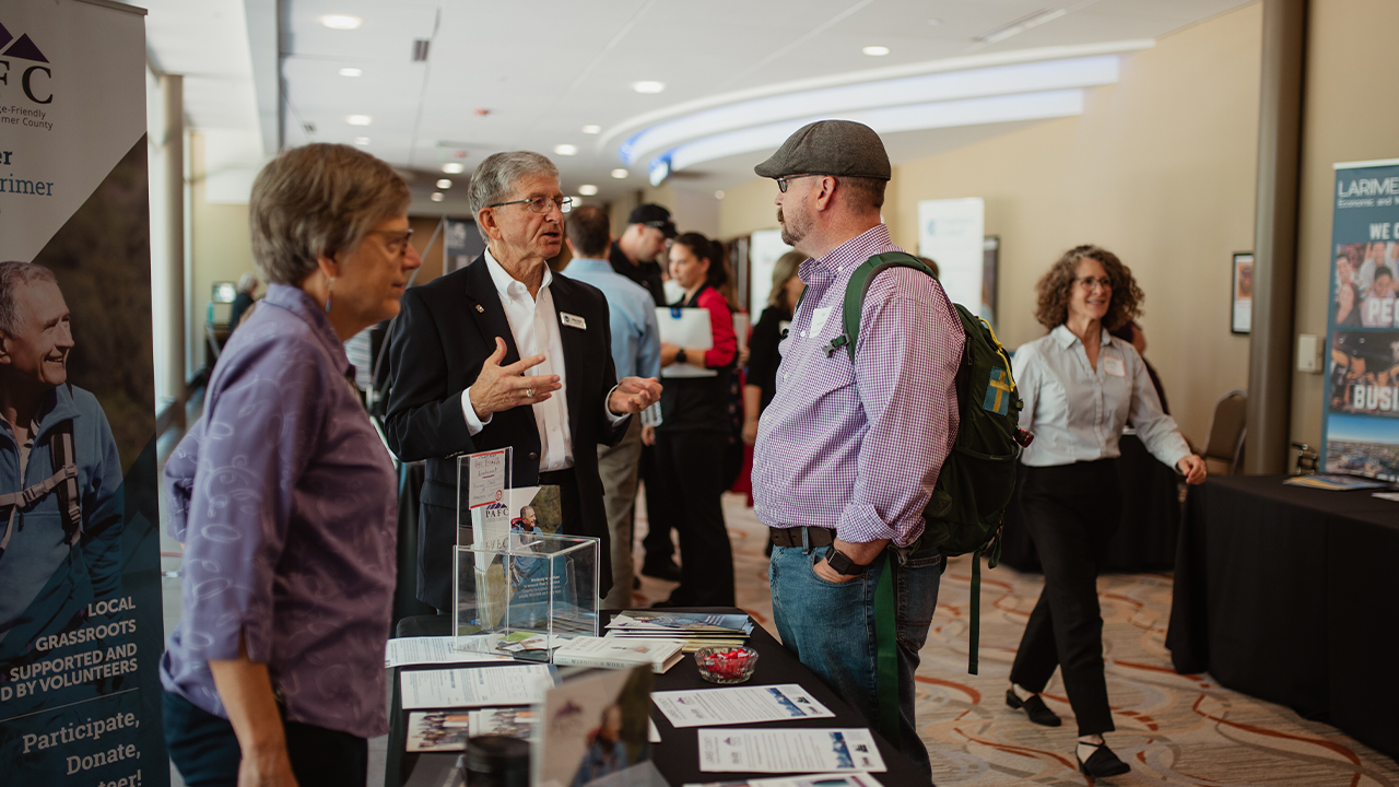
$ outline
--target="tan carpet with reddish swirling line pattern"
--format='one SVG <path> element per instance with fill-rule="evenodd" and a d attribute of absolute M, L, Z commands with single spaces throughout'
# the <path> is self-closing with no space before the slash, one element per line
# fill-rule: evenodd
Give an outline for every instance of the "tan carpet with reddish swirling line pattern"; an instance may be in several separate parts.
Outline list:
<path fill-rule="evenodd" d="M 641 514 L 638 541 L 645 534 Z M 762 556 L 767 531 L 740 496 L 725 496 L 725 515 L 739 606 L 776 634 Z M 662 599 L 673 587 L 642 577 L 637 604 Z M 943 574 L 918 671 L 918 718 L 937 784 L 1093 784 L 1074 765 L 1073 713 L 1058 675 L 1044 697 L 1063 727 L 1037 727 L 1004 704 L 1006 675 L 1041 587 L 1037 574 L 1006 567 L 982 573 L 981 675 L 968 675 L 971 563 L 956 559 Z M 1177 675 L 1164 644 L 1168 574 L 1115 574 L 1098 588 L 1118 727 L 1108 744 L 1132 763 L 1132 773 L 1104 784 L 1399 787 L 1395 760 L 1339 730 L 1224 689 L 1209 675 Z"/>

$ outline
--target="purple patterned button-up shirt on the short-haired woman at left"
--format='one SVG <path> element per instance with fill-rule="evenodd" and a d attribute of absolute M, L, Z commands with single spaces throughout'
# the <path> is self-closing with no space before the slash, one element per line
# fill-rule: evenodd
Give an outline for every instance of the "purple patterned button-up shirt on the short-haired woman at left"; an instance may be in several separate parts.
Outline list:
<path fill-rule="evenodd" d="M 273 284 L 224 349 L 204 417 L 165 465 L 185 560 L 161 683 L 208 713 L 228 716 L 208 662 L 238 658 L 241 634 L 288 720 L 365 738 L 388 731 L 395 475 L 353 378 L 326 315 Z"/>

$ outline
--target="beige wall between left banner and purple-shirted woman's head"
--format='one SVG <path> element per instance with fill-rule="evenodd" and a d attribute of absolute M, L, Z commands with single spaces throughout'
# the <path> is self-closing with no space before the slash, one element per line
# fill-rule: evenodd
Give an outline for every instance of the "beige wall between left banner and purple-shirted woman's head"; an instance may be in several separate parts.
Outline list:
<path fill-rule="evenodd" d="M 248 235 L 246 204 L 214 204 L 204 200 L 204 136 L 190 134 L 190 330 L 194 368 L 204 365 L 204 316 L 214 281 L 238 281 L 256 272 Z M 263 283 L 266 287 L 266 283 Z M 259 290 L 260 293 L 262 290 Z M 228 319 L 228 305 L 214 307 L 215 322 Z"/>

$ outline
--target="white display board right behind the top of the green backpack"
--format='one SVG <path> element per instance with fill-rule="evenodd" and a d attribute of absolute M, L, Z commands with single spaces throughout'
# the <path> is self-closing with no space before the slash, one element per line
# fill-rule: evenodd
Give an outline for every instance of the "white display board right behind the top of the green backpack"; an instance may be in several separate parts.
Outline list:
<path fill-rule="evenodd" d="M 937 263 L 939 280 L 954 304 L 990 312 L 982 294 L 986 206 L 981 197 L 926 199 L 918 203 L 918 253 Z"/>

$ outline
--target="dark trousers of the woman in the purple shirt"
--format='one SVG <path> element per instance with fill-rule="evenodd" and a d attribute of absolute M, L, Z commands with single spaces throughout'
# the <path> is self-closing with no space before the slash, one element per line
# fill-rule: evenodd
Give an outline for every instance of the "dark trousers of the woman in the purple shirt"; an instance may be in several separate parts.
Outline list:
<path fill-rule="evenodd" d="M 164 692 L 165 746 L 189 787 L 236 787 L 242 751 L 234 725 Z M 283 720 L 291 772 L 301 787 L 365 784 L 369 742 L 348 732 Z"/>

